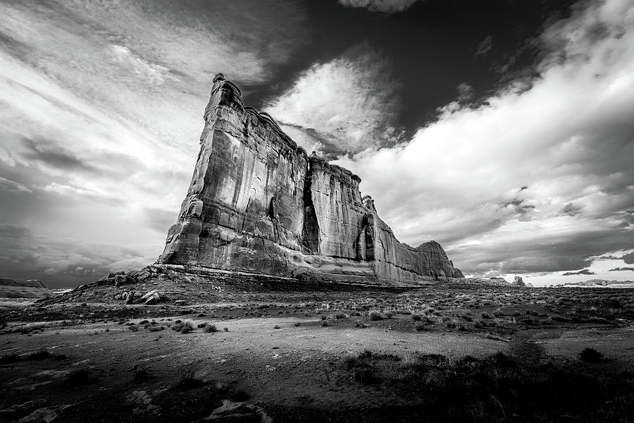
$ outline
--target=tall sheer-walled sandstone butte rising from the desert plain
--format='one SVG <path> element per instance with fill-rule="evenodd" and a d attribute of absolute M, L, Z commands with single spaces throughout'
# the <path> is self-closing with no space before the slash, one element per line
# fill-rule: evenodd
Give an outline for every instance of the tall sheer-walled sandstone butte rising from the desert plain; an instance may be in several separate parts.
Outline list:
<path fill-rule="evenodd" d="M 435 241 L 399 243 L 359 176 L 306 154 L 220 73 L 204 120 L 159 264 L 363 283 L 462 277 Z"/>

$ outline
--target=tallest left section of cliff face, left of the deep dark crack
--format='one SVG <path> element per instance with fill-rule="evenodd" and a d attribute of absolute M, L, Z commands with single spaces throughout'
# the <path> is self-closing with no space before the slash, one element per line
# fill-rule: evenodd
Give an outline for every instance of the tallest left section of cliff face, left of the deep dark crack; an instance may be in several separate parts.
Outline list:
<path fill-rule="evenodd" d="M 268 250 L 301 250 L 306 152 L 216 78 L 201 149 L 159 262 L 284 271 Z"/>

